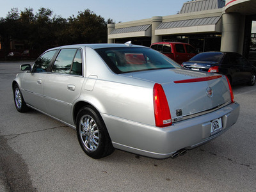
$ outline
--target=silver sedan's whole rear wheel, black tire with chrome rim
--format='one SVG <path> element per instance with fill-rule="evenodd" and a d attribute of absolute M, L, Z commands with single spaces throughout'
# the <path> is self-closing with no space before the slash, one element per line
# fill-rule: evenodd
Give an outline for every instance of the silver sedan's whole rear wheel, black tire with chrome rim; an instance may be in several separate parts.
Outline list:
<path fill-rule="evenodd" d="M 79 111 L 76 131 L 79 144 L 93 159 L 108 156 L 114 151 L 106 125 L 99 113 L 92 108 L 84 107 Z"/>

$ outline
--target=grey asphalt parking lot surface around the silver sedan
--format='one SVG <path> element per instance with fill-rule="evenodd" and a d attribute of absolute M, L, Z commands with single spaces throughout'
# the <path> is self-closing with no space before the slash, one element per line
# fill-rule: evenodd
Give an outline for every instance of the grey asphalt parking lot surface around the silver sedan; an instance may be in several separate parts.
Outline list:
<path fill-rule="evenodd" d="M 115 150 L 95 160 L 74 129 L 35 110 L 16 111 L 12 80 L 21 63 L 0 61 L 0 191 L 256 191 L 256 85 L 233 86 L 237 123 L 184 156 Z"/>

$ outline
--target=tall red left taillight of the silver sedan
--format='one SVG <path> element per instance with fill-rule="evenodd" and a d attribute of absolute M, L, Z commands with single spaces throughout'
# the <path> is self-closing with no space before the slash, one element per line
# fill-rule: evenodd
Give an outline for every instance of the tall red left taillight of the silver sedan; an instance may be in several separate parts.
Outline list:
<path fill-rule="evenodd" d="M 172 116 L 161 84 L 155 84 L 153 89 L 154 113 L 157 127 L 172 125 Z"/>

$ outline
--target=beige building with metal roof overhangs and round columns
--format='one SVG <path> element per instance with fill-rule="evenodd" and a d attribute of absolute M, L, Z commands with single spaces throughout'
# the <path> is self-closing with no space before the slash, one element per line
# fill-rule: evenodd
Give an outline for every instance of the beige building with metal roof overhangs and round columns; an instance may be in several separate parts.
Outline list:
<path fill-rule="evenodd" d="M 177 15 L 108 24 L 108 43 L 150 46 L 154 42 L 187 42 L 200 51 L 248 54 L 255 0 L 196 0 L 184 3 Z"/>

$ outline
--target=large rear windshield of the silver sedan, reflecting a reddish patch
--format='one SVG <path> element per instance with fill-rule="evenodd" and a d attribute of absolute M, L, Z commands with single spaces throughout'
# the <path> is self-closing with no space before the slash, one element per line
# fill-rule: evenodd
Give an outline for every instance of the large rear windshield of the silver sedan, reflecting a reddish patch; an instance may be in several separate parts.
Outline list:
<path fill-rule="evenodd" d="M 144 47 L 114 47 L 95 51 L 116 74 L 162 68 L 182 68 L 158 51 Z"/>

